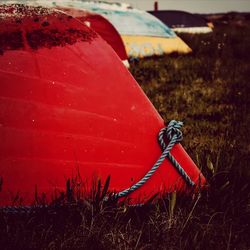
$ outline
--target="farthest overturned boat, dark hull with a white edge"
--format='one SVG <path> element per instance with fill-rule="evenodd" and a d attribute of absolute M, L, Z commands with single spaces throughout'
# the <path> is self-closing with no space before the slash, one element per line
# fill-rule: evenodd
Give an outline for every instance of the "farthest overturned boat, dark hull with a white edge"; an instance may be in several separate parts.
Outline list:
<path fill-rule="evenodd" d="M 149 11 L 174 31 L 179 33 L 210 33 L 213 31 L 211 23 L 201 16 L 179 10 Z"/>

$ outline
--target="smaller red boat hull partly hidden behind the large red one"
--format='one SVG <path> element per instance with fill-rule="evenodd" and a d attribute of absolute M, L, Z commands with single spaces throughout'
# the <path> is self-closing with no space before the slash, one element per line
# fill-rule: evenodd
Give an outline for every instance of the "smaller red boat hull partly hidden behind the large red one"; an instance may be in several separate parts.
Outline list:
<path fill-rule="evenodd" d="M 60 8 L 81 22 L 88 22 L 91 29 L 96 31 L 117 53 L 121 60 L 127 60 L 127 52 L 122 38 L 116 28 L 104 17 L 96 13 L 91 13 L 74 8 Z"/>

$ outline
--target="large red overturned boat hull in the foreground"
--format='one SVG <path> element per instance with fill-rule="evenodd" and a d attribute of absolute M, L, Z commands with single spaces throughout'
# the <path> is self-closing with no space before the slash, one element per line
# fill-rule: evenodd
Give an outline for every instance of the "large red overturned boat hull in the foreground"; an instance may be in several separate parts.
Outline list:
<path fill-rule="evenodd" d="M 78 171 L 88 187 L 111 175 L 113 191 L 144 176 L 161 155 L 164 123 L 115 52 L 63 14 L 4 11 L 13 13 L 0 20 L 0 204 L 16 193 L 30 204 L 35 186 L 50 199 Z M 205 181 L 180 144 L 172 154 L 193 181 Z M 132 202 L 184 187 L 166 160 Z"/>

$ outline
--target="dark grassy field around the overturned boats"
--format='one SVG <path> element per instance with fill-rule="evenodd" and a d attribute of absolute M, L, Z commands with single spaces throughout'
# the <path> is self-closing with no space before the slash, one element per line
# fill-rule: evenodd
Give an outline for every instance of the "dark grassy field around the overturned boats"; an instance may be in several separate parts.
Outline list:
<path fill-rule="evenodd" d="M 102 194 L 36 215 L 0 215 L 8 249 L 250 249 L 250 23 L 185 35 L 190 55 L 134 63 L 131 72 L 165 121 L 182 120 L 183 144 L 210 188 L 154 205 L 117 206 Z M 105 193 L 105 190 L 104 190 Z"/>

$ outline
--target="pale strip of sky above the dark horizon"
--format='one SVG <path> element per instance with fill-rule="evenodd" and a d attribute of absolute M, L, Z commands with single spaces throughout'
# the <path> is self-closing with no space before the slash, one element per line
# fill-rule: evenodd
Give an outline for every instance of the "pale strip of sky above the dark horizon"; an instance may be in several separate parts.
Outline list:
<path fill-rule="evenodd" d="M 152 10 L 154 0 L 106 0 L 127 2 L 134 7 Z M 228 11 L 250 12 L 250 0 L 158 0 L 159 9 L 186 10 L 195 13 L 218 13 Z"/>

